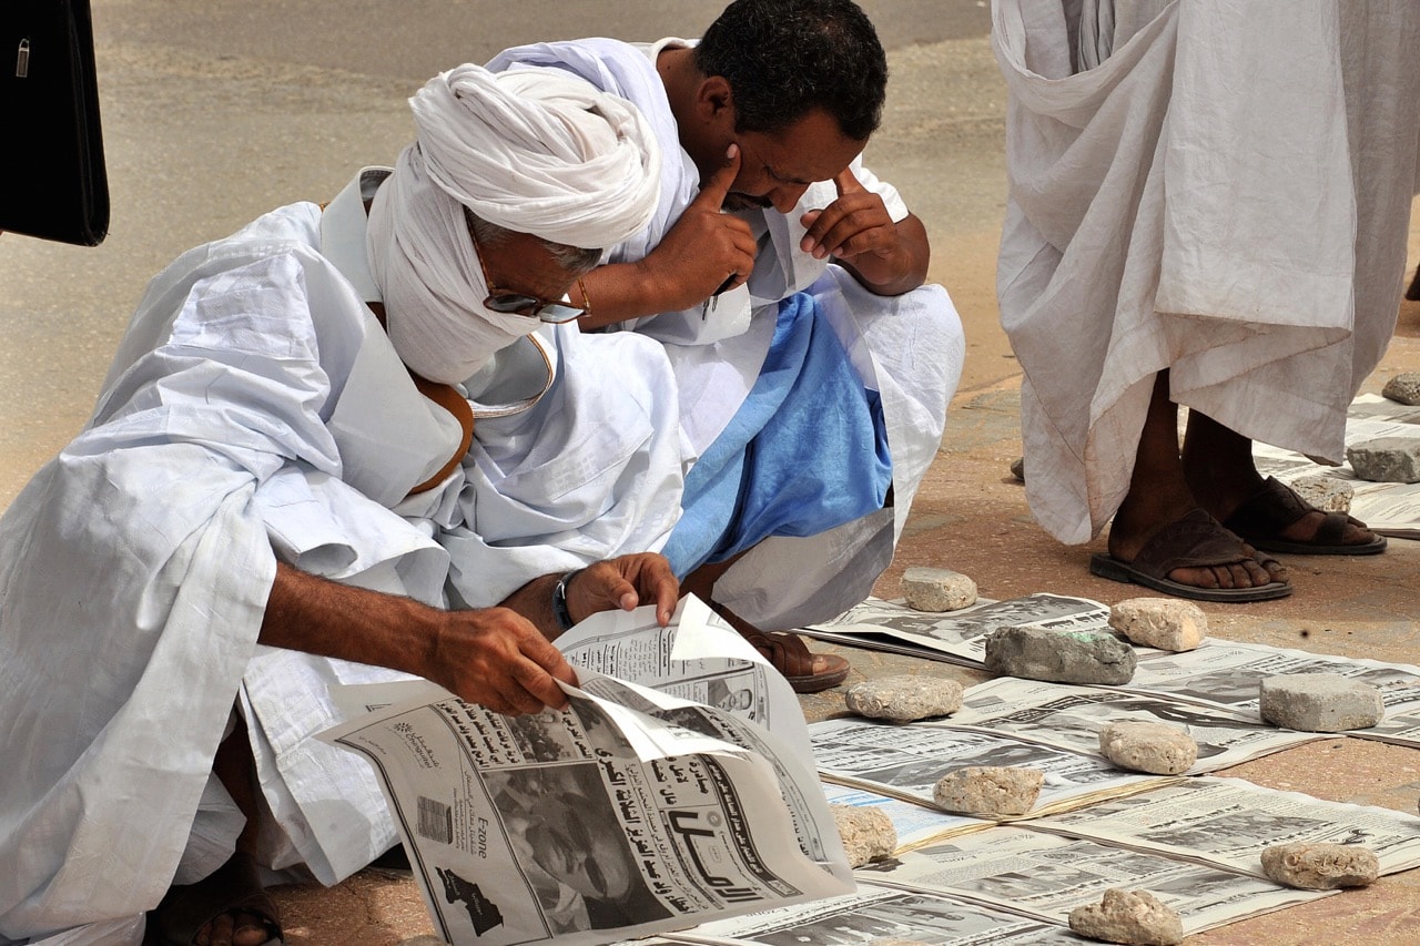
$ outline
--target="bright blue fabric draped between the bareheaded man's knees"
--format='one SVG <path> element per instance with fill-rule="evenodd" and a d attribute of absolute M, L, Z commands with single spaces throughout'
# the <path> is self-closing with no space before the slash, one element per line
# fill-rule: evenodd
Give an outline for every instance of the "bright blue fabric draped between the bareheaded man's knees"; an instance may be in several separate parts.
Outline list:
<path fill-rule="evenodd" d="M 799 293 L 780 303 L 750 396 L 690 467 L 663 551 L 684 578 L 770 535 L 816 535 L 879 510 L 890 484 L 880 398 Z"/>

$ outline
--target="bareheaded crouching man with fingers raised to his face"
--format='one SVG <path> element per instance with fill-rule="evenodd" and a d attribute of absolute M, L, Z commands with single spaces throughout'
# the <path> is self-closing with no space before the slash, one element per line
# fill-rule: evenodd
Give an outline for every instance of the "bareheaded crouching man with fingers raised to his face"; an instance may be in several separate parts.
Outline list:
<path fill-rule="evenodd" d="M 656 129 L 656 216 L 572 298 L 584 328 L 670 357 L 694 464 L 666 555 L 686 589 L 797 690 L 842 682 L 842 658 L 780 631 L 870 594 L 964 355 L 922 222 L 862 166 L 888 80 L 872 23 L 848 0 L 740 0 L 699 43 L 544 43 L 488 67 L 574 72 Z"/>

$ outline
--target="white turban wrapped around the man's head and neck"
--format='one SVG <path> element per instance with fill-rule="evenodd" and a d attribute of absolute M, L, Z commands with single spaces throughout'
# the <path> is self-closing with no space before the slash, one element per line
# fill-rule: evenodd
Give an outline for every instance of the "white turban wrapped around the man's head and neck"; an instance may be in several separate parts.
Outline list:
<path fill-rule="evenodd" d="M 457 384 L 538 327 L 483 307 L 463 209 L 554 243 L 613 246 L 656 210 L 660 149 L 630 104 L 555 70 L 460 65 L 409 102 L 419 136 L 375 195 L 366 249 L 399 357 Z"/>

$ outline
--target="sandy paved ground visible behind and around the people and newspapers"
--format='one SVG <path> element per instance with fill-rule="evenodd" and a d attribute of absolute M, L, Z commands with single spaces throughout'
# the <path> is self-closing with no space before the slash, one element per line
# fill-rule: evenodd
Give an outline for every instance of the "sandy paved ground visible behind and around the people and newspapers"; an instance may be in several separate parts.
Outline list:
<path fill-rule="evenodd" d="M 0 504 L 87 418 L 146 280 L 187 247 L 280 203 L 332 196 L 362 163 L 388 163 L 410 134 L 405 98 L 429 75 L 513 43 L 606 33 L 694 34 L 719 0 L 694 3 L 389 4 L 329 0 L 94 0 L 114 224 L 87 250 L 0 239 Z M 1020 456 L 1020 369 L 997 325 L 994 260 L 1005 197 L 1004 89 L 985 40 L 985 3 L 865 3 L 890 51 L 889 112 L 868 151 L 926 222 L 932 276 L 967 330 L 967 365 L 937 462 L 896 561 L 878 584 L 897 595 L 910 565 L 971 575 L 984 597 L 1032 591 L 1105 602 L 1137 588 L 1093 578 L 1088 553 L 1047 537 L 1008 473 Z M 554 18 L 550 11 L 557 13 Z M 473 16 L 470 16 L 473 14 Z M 679 26 L 684 24 L 684 26 Z M 1411 227 L 1410 271 L 1420 261 Z M 1367 391 L 1420 371 L 1420 304 L 1406 304 Z M 1296 592 L 1254 605 L 1203 605 L 1211 632 L 1323 653 L 1420 662 L 1420 543 L 1373 558 L 1291 558 Z M 944 663 L 842 651 L 848 685 L 897 672 L 980 675 Z M 811 719 L 841 690 L 804 697 Z M 1264 785 L 1404 811 L 1420 795 L 1420 751 L 1332 739 L 1230 770 Z M 432 932 L 413 882 L 375 869 L 332 889 L 277 891 L 288 942 L 385 946 Z M 1268 946 L 1420 942 L 1420 871 L 1234 923 L 1189 943 Z"/>

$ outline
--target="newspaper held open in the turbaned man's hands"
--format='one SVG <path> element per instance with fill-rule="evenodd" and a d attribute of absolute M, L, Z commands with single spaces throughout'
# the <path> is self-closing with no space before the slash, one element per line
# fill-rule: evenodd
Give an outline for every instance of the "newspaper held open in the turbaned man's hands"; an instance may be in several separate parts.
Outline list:
<path fill-rule="evenodd" d="M 649 605 L 584 625 L 571 649 L 682 689 L 707 683 L 707 653 L 741 646 L 763 663 L 693 598 L 669 632 Z M 665 658 L 648 659 L 648 636 Z M 805 732 L 777 709 L 788 685 L 733 673 L 758 693 L 750 706 L 579 668 L 567 710 L 518 717 L 423 680 L 383 685 L 392 703 L 322 739 L 373 766 L 435 929 L 454 945 L 588 946 L 852 891 L 807 737 L 795 747 L 748 722 Z"/>

